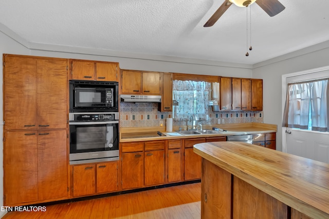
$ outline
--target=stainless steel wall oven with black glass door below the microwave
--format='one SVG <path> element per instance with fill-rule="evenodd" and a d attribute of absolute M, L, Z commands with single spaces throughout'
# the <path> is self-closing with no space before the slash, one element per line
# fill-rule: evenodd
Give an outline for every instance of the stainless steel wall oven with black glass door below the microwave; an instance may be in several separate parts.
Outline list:
<path fill-rule="evenodd" d="M 69 113 L 70 164 L 119 160 L 119 112 Z"/>

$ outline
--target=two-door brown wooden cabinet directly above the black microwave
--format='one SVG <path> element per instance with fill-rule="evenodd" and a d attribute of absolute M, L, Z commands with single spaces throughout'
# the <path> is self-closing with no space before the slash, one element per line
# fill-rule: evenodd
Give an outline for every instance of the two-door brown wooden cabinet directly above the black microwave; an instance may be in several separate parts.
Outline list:
<path fill-rule="evenodd" d="M 70 59 L 71 79 L 88 81 L 118 81 L 119 63 Z"/>

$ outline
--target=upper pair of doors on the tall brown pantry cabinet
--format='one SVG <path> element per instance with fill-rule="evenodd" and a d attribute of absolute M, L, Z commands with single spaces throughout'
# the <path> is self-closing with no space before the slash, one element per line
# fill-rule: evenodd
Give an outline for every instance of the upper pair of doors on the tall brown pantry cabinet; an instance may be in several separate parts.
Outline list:
<path fill-rule="evenodd" d="M 67 59 L 5 55 L 6 130 L 65 129 Z"/>

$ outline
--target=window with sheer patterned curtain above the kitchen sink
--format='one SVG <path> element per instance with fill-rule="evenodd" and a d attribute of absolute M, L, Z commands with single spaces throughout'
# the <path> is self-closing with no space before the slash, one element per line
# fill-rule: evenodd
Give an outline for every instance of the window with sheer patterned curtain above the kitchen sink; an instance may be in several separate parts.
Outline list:
<path fill-rule="evenodd" d="M 209 115 L 208 100 L 210 98 L 211 83 L 194 81 L 173 81 L 173 99 L 178 106 L 173 108 L 173 118 L 189 120 L 206 120 Z"/>

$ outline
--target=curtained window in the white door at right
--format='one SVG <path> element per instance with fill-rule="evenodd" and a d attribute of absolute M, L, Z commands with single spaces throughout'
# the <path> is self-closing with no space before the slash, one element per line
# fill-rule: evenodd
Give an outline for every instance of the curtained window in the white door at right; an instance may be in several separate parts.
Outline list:
<path fill-rule="evenodd" d="M 329 131 L 329 78 L 288 84 L 283 127 Z"/>

